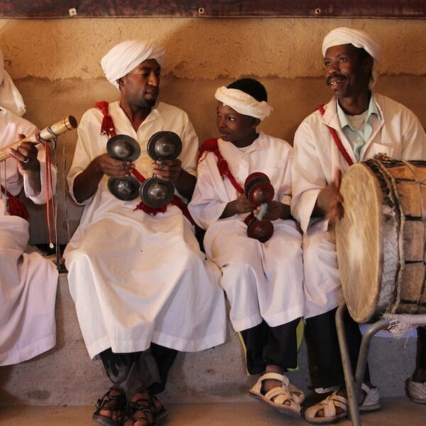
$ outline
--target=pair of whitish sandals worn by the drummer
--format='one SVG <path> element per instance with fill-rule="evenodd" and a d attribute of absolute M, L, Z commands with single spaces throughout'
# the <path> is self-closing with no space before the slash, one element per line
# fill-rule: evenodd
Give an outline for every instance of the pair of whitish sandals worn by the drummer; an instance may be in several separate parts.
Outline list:
<path fill-rule="evenodd" d="M 381 407 L 379 402 L 378 388 L 370 388 L 365 383 L 361 385 L 361 390 L 365 393 L 364 400 L 359 404 L 360 411 L 378 410 Z M 338 391 L 338 390 L 337 390 Z M 320 403 L 312 405 L 305 411 L 305 420 L 310 423 L 328 423 L 346 417 L 348 413 L 349 401 L 342 395 L 337 395 L 334 391 L 332 395 L 322 400 Z M 342 413 L 337 413 L 340 408 Z M 318 416 L 320 410 L 324 410 L 324 416 Z"/>

